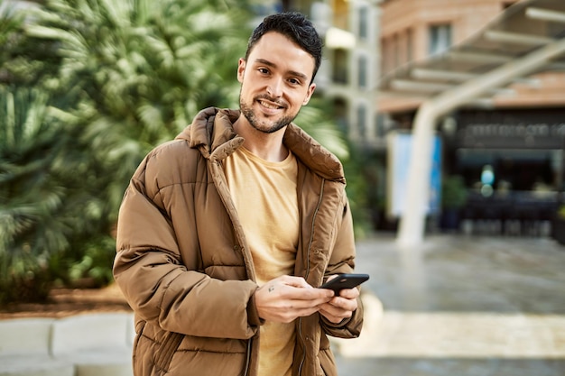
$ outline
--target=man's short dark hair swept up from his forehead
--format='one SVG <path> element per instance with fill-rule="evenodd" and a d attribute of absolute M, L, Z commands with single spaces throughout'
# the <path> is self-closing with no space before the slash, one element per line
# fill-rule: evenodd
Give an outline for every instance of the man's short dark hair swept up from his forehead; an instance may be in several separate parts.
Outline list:
<path fill-rule="evenodd" d="M 267 32 L 280 32 L 298 44 L 302 50 L 308 52 L 314 58 L 312 80 L 316 77 L 316 73 L 318 73 L 320 68 L 323 44 L 320 34 L 318 34 L 310 20 L 298 12 L 284 12 L 266 16 L 263 22 L 255 28 L 251 37 L 249 37 L 245 60 L 249 57 L 257 41 Z"/>

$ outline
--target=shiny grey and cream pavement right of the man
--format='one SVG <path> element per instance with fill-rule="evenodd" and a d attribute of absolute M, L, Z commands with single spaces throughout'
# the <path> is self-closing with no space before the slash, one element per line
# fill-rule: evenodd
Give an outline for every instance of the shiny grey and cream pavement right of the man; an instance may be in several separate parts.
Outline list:
<path fill-rule="evenodd" d="M 334 340 L 340 376 L 564 376 L 565 246 L 394 234 L 357 243 L 366 324 Z"/>

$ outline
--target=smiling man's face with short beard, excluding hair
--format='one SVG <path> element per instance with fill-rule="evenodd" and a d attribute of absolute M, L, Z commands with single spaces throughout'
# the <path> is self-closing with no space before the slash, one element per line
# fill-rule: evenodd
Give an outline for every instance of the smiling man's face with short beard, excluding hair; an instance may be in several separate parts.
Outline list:
<path fill-rule="evenodd" d="M 249 124 L 264 133 L 290 124 L 316 88 L 313 71 L 308 52 L 281 33 L 264 34 L 237 68 L 239 105 Z"/>

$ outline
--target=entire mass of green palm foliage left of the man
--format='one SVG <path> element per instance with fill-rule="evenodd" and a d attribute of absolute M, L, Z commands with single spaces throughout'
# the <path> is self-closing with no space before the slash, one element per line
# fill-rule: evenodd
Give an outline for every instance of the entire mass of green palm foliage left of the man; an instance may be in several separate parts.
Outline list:
<path fill-rule="evenodd" d="M 3 14 L 1 291 L 27 286 L 39 292 L 30 299 L 44 298 L 43 282 L 54 272 L 68 278 L 61 271 L 73 261 L 71 273 L 111 278 L 108 239 L 136 165 L 199 108 L 236 103 L 236 80 L 225 78 L 245 52 L 245 9 L 52 0 L 32 14 Z M 25 294 L 16 295 L 0 300 Z"/>

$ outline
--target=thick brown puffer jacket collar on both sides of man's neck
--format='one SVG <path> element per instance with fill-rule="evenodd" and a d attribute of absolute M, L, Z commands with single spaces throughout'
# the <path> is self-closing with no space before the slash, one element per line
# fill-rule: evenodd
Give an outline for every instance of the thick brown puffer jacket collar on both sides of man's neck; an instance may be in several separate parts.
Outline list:
<path fill-rule="evenodd" d="M 190 147 L 199 149 L 205 158 L 223 160 L 244 143 L 232 125 L 239 115 L 239 110 L 208 107 L 200 111 L 192 124 L 176 138 L 190 142 Z M 292 123 L 286 127 L 282 142 L 322 178 L 345 183 L 343 166 L 338 158 L 298 125 Z"/>

